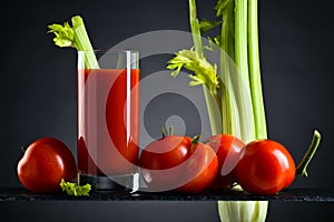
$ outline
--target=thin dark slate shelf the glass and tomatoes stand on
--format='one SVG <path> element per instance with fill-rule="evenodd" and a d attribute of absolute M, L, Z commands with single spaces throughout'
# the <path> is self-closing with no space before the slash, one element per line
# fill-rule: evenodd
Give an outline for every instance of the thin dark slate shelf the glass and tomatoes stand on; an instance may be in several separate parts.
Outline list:
<path fill-rule="evenodd" d="M 295 201 L 334 202 L 334 189 L 286 189 L 275 195 L 252 195 L 243 191 L 215 191 L 198 194 L 175 192 L 91 192 L 89 196 L 69 196 L 65 193 L 39 194 L 23 188 L 0 188 L 0 201 Z"/>

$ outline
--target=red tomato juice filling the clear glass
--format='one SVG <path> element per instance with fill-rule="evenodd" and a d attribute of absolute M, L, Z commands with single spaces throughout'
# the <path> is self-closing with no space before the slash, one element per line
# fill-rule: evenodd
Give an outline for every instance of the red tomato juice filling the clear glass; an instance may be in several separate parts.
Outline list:
<path fill-rule="evenodd" d="M 78 70 L 78 170 L 88 175 L 136 171 L 139 69 Z"/>

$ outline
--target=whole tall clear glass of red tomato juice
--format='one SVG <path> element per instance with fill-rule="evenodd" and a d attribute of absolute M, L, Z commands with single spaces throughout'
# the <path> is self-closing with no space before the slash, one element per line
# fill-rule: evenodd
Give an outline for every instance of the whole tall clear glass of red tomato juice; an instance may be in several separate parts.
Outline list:
<path fill-rule="evenodd" d="M 78 172 L 92 190 L 139 186 L 139 52 L 78 52 Z"/>

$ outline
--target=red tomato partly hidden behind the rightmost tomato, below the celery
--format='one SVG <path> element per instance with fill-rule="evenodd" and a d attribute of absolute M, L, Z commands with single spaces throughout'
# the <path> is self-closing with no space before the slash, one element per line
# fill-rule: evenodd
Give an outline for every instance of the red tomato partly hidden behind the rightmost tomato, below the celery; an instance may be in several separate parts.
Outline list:
<path fill-rule="evenodd" d="M 207 139 L 208 145 L 214 149 L 218 157 L 218 173 L 210 189 L 225 189 L 236 182 L 235 167 L 237 165 L 240 151 L 245 143 L 230 134 L 217 134 Z"/>

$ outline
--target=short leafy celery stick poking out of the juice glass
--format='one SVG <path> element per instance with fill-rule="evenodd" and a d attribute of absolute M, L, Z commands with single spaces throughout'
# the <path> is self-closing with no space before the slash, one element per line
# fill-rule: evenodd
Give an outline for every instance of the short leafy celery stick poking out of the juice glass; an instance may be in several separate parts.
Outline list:
<path fill-rule="evenodd" d="M 55 33 L 55 44 L 58 47 L 72 47 L 78 51 L 86 51 L 85 68 L 98 69 L 99 64 L 94 53 L 94 48 L 89 41 L 84 20 L 80 16 L 71 18 L 72 27 L 68 22 L 61 24 L 50 24 L 48 32 Z"/>

